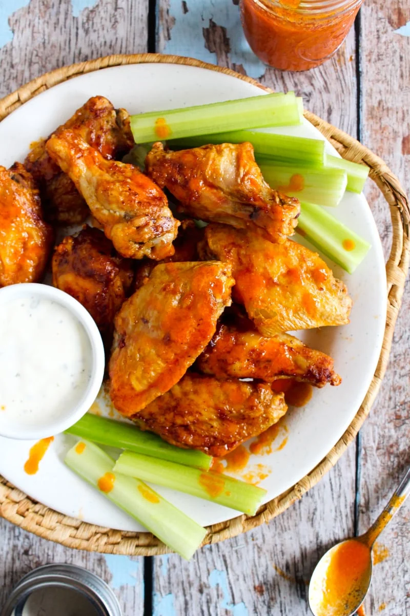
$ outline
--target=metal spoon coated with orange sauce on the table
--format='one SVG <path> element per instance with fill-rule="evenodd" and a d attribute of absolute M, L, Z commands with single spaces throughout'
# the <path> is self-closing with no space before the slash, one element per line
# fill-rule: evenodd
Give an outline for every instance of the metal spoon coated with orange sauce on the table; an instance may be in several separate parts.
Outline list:
<path fill-rule="evenodd" d="M 321 557 L 313 571 L 309 584 L 309 607 L 314 616 L 328 616 L 330 614 L 332 616 L 352 616 L 355 614 L 369 590 L 372 574 L 371 549 L 373 548 L 374 541 L 379 537 L 382 530 L 385 529 L 396 511 L 400 509 L 400 506 L 403 505 L 409 493 L 410 468 L 393 493 L 392 498 L 390 498 L 382 513 L 380 513 L 380 516 L 371 525 L 369 530 L 364 535 L 360 535 L 360 537 L 354 537 L 337 543 Z M 348 560 L 347 577 L 345 580 L 341 580 L 339 575 L 337 591 L 333 596 L 333 593 L 331 594 L 331 590 L 329 590 L 328 577 L 328 575 L 332 575 L 331 567 L 335 566 L 337 557 L 341 558 L 342 553 L 348 559 L 349 551 L 352 551 L 352 549 L 357 551 L 358 559 L 362 561 L 357 569 L 357 571 L 360 569 L 360 575 L 355 575 L 353 560 L 350 559 L 350 562 Z M 343 588 L 343 581 L 347 582 L 349 586 L 345 585 Z"/>

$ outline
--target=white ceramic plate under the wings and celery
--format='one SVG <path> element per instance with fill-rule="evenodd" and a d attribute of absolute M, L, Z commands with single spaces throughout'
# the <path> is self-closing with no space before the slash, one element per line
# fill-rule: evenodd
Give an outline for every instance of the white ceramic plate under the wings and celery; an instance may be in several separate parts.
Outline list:
<path fill-rule="evenodd" d="M 52 87 L 3 120 L 1 164 L 9 166 L 15 160 L 23 161 L 30 142 L 47 136 L 85 100 L 97 94 L 108 97 L 115 107 L 139 113 L 263 95 L 263 92 L 232 76 L 184 65 L 138 64 L 95 71 Z M 307 122 L 275 132 L 323 139 Z M 326 147 L 329 153 L 335 154 L 329 144 Z M 248 470 L 254 471 L 257 464 L 262 464 L 269 474 L 260 484 L 267 489 L 266 500 L 298 482 L 336 444 L 360 407 L 379 359 L 386 316 L 386 278 L 376 224 L 363 195 L 347 193 L 332 214 L 365 237 L 372 248 L 352 276 L 325 259 L 334 274 L 349 287 L 354 302 L 350 324 L 308 331 L 301 338 L 334 358 L 343 383 L 339 387 L 315 390 L 306 407 L 288 411 L 285 447 L 269 455 L 251 456 Z M 278 435 L 274 449 L 283 436 Z M 72 443 L 72 437 L 56 437 L 39 472 L 28 476 L 23 465 L 33 443 L 0 438 L 0 473 L 34 499 L 68 516 L 114 529 L 143 530 L 64 466 L 64 454 Z M 157 489 L 200 524 L 215 524 L 239 515 L 233 509 L 208 501 Z"/>

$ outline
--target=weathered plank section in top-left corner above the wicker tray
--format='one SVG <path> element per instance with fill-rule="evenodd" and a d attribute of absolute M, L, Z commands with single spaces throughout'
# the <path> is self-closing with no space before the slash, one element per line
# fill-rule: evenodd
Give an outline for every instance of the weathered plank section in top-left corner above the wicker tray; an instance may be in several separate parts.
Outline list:
<path fill-rule="evenodd" d="M 15 12 L 9 4 L 13 38 L 0 47 L 0 97 L 53 68 L 147 51 L 146 0 L 73 2 L 81 12 L 71 0 L 31 0 Z"/>

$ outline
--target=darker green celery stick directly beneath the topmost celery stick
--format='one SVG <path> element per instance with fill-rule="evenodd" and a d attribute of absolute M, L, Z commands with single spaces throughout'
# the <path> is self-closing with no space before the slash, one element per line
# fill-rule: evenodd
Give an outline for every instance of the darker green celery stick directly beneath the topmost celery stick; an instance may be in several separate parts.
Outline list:
<path fill-rule="evenodd" d="M 232 131 L 211 135 L 171 139 L 167 142 L 171 150 L 195 148 L 207 144 L 242 144 L 250 141 L 255 155 L 269 156 L 278 164 L 306 164 L 313 168 L 323 167 L 325 161 L 325 142 L 321 139 L 276 135 L 272 132 Z"/>

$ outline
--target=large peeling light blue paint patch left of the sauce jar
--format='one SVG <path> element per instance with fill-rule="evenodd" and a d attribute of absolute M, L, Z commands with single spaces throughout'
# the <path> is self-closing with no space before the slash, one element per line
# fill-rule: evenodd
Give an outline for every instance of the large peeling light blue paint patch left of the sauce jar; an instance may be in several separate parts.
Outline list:
<path fill-rule="evenodd" d="M 205 48 L 203 28 L 209 28 L 210 20 L 223 25 L 229 38 L 229 60 L 242 64 L 246 75 L 260 77 L 266 66 L 258 60 L 246 43 L 240 23 L 239 7 L 231 0 L 187 0 L 188 11 L 184 13 L 181 0 L 170 0 L 170 15 L 175 18 L 171 27 L 171 40 L 165 43 L 165 54 L 188 55 L 203 62 L 216 63 L 216 54 Z"/>

